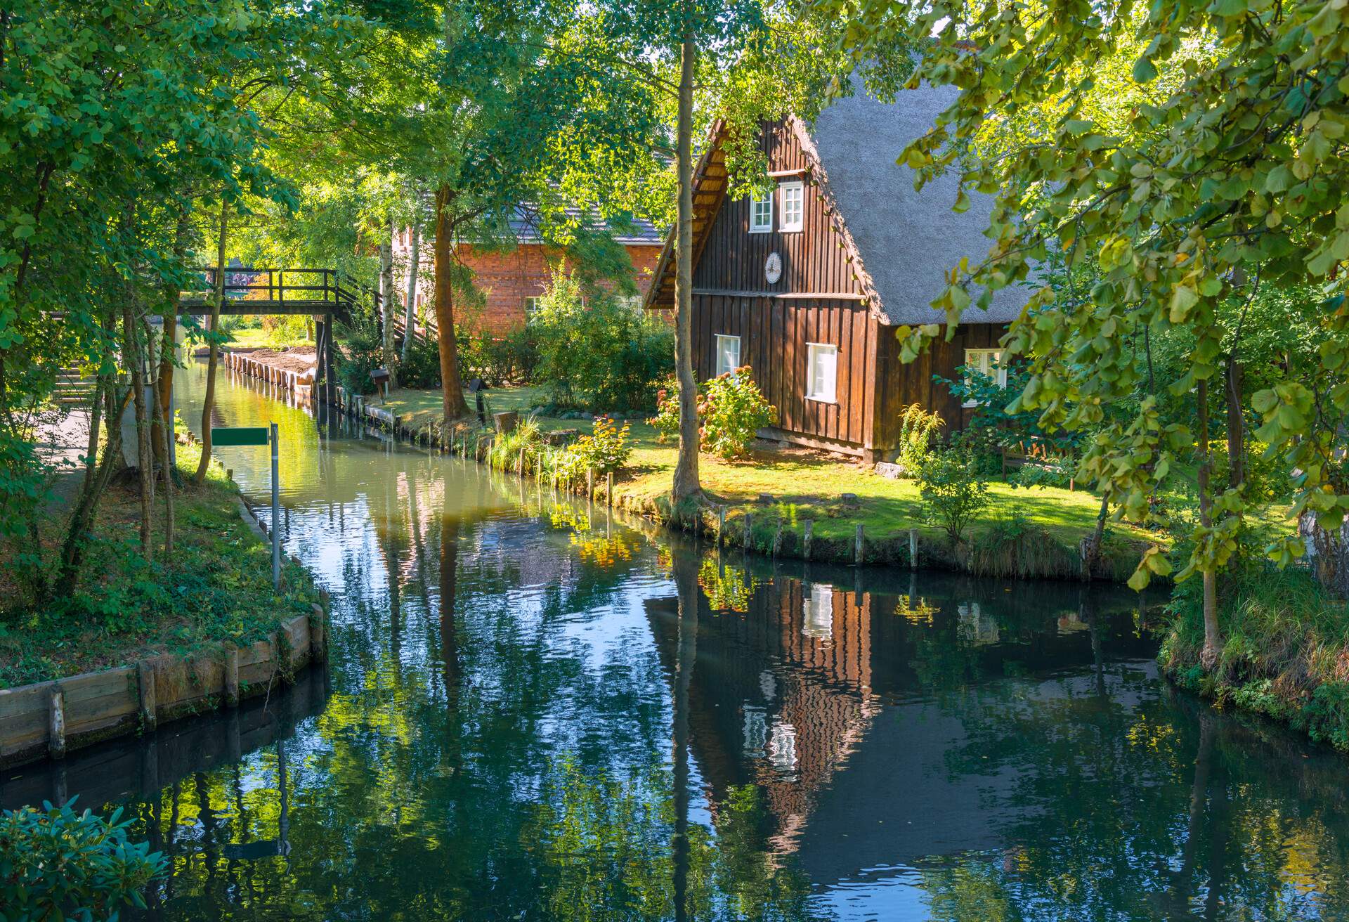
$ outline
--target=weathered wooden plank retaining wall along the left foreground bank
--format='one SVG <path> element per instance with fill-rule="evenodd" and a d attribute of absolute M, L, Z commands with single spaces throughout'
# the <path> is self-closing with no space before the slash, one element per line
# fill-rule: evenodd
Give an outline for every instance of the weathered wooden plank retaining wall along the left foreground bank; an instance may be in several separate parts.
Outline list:
<path fill-rule="evenodd" d="M 156 656 L 135 666 L 0 690 L 0 768 L 66 752 L 264 694 L 326 659 L 318 605 L 258 643 L 197 657 Z"/>

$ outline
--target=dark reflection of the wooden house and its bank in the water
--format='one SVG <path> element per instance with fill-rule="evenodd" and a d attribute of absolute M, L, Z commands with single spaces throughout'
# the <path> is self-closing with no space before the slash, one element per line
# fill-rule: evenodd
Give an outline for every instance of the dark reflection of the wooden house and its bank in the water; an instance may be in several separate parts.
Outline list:
<path fill-rule="evenodd" d="M 1000 830 L 1025 809 L 1009 806 L 1016 778 L 986 769 L 962 717 L 981 675 L 1089 666 L 1106 645 L 1114 656 L 1153 652 L 1129 614 L 1094 620 L 1097 636 L 1078 626 L 1078 606 L 1108 597 L 1087 606 L 1068 585 L 1010 591 L 924 575 L 920 586 L 916 575 L 877 572 L 871 585 L 892 590 L 882 594 L 849 590 L 842 583 L 855 576 L 826 571 L 830 583 L 765 580 L 743 614 L 714 613 L 699 595 L 687 714 L 714 817 L 731 786 L 757 784 L 774 845 L 824 888 L 1004 845 Z M 1133 599 L 1118 601 L 1129 612 Z M 673 675 L 676 601 L 646 606 Z M 960 768 L 962 756 L 973 765 Z"/>

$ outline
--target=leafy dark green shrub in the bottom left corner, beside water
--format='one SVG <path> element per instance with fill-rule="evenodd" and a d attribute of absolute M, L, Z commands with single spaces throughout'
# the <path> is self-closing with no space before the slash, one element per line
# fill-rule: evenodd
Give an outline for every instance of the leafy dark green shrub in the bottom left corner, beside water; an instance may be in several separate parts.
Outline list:
<path fill-rule="evenodd" d="M 119 906 L 144 909 L 140 891 L 165 859 L 127 840 L 121 809 L 104 819 L 71 805 L 0 815 L 0 907 L 13 919 L 105 919 Z"/>

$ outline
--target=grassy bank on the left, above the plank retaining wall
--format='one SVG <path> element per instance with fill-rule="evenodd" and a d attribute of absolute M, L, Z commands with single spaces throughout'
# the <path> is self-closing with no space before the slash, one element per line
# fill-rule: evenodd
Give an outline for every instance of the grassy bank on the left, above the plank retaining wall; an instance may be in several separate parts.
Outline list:
<path fill-rule="evenodd" d="M 154 512 L 156 553 L 147 563 L 138 553 L 136 482 L 115 482 L 100 504 L 76 594 L 51 606 L 0 609 L 0 688 L 159 653 L 244 647 L 310 612 L 317 590 L 293 562 L 283 564 L 283 595 L 272 594 L 270 545 L 240 516 L 239 490 L 224 471 L 213 464 L 200 487 L 186 482 L 200 458 L 198 445 L 178 445 L 185 483 L 177 491 L 170 558 L 162 552 L 162 497 Z M 39 535 L 47 560 L 62 537 L 63 513 L 54 509 Z M 4 597 L 20 598 L 15 567 L 0 564 L 0 574 Z"/>

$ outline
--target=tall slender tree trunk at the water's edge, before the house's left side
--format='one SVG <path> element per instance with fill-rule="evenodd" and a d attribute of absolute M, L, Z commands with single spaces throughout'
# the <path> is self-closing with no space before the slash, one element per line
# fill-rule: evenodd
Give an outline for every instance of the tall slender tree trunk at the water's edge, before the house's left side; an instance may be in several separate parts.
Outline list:
<path fill-rule="evenodd" d="M 693 379 L 693 65 L 697 49 L 693 32 L 684 35 L 679 80 L 679 234 L 674 247 L 674 371 L 679 377 L 679 460 L 674 464 L 672 499 L 697 498 L 697 382 Z M 676 513 L 679 514 L 679 513 Z"/>

